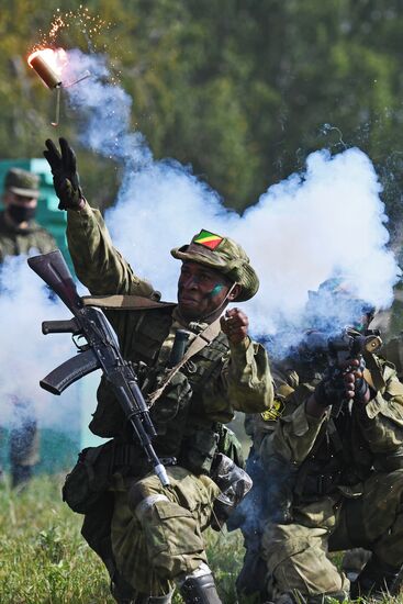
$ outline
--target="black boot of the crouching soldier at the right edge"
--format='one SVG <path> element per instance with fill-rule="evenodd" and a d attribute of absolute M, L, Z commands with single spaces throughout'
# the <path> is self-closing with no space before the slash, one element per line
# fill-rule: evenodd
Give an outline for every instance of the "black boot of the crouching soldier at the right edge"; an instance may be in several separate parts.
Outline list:
<path fill-rule="evenodd" d="M 351 583 L 350 597 L 370 596 L 373 600 L 383 600 L 385 593 L 393 595 L 401 567 L 391 567 L 382 562 L 372 553 L 356 581 Z"/>

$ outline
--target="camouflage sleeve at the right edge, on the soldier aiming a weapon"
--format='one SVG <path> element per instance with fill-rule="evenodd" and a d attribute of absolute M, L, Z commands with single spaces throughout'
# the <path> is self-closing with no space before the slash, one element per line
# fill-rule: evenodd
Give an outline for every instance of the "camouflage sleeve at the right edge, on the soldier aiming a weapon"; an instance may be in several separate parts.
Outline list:
<path fill-rule="evenodd" d="M 367 405 L 355 405 L 361 434 L 373 454 L 395 451 L 403 445 L 403 384 L 394 367 L 385 362 L 384 387 Z"/>

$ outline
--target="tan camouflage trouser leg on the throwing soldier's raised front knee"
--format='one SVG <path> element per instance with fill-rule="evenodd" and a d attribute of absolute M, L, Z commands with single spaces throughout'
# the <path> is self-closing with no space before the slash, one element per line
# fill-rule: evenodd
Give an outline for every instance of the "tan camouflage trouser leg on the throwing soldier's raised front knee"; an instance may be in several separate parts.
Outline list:
<path fill-rule="evenodd" d="M 202 532 L 220 490 L 206 476 L 167 468 L 171 484 L 155 474 L 142 480 L 115 477 L 111 523 L 116 568 L 136 592 L 169 593 L 172 580 L 206 562 Z"/>

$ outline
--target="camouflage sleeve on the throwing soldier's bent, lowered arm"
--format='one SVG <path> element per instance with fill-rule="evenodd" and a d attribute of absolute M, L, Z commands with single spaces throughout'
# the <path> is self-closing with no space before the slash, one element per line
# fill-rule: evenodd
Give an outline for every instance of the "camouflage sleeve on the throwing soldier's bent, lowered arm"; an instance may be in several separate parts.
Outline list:
<path fill-rule="evenodd" d="M 217 421 L 230 421 L 235 411 L 258 413 L 268 409 L 273 402 L 273 385 L 265 348 L 250 338 L 231 345 L 219 378 L 203 392 L 204 409 Z"/>

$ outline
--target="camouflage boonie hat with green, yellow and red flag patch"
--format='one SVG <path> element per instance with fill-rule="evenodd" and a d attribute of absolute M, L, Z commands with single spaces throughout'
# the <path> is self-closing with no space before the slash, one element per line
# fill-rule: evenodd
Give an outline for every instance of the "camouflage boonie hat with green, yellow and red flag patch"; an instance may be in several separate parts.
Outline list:
<path fill-rule="evenodd" d="M 171 255 L 178 260 L 199 262 L 219 270 L 234 283 L 238 283 L 242 291 L 236 298 L 237 302 L 249 300 L 259 289 L 259 279 L 249 258 L 240 245 L 230 237 L 202 230 L 189 245 L 171 249 Z"/>

